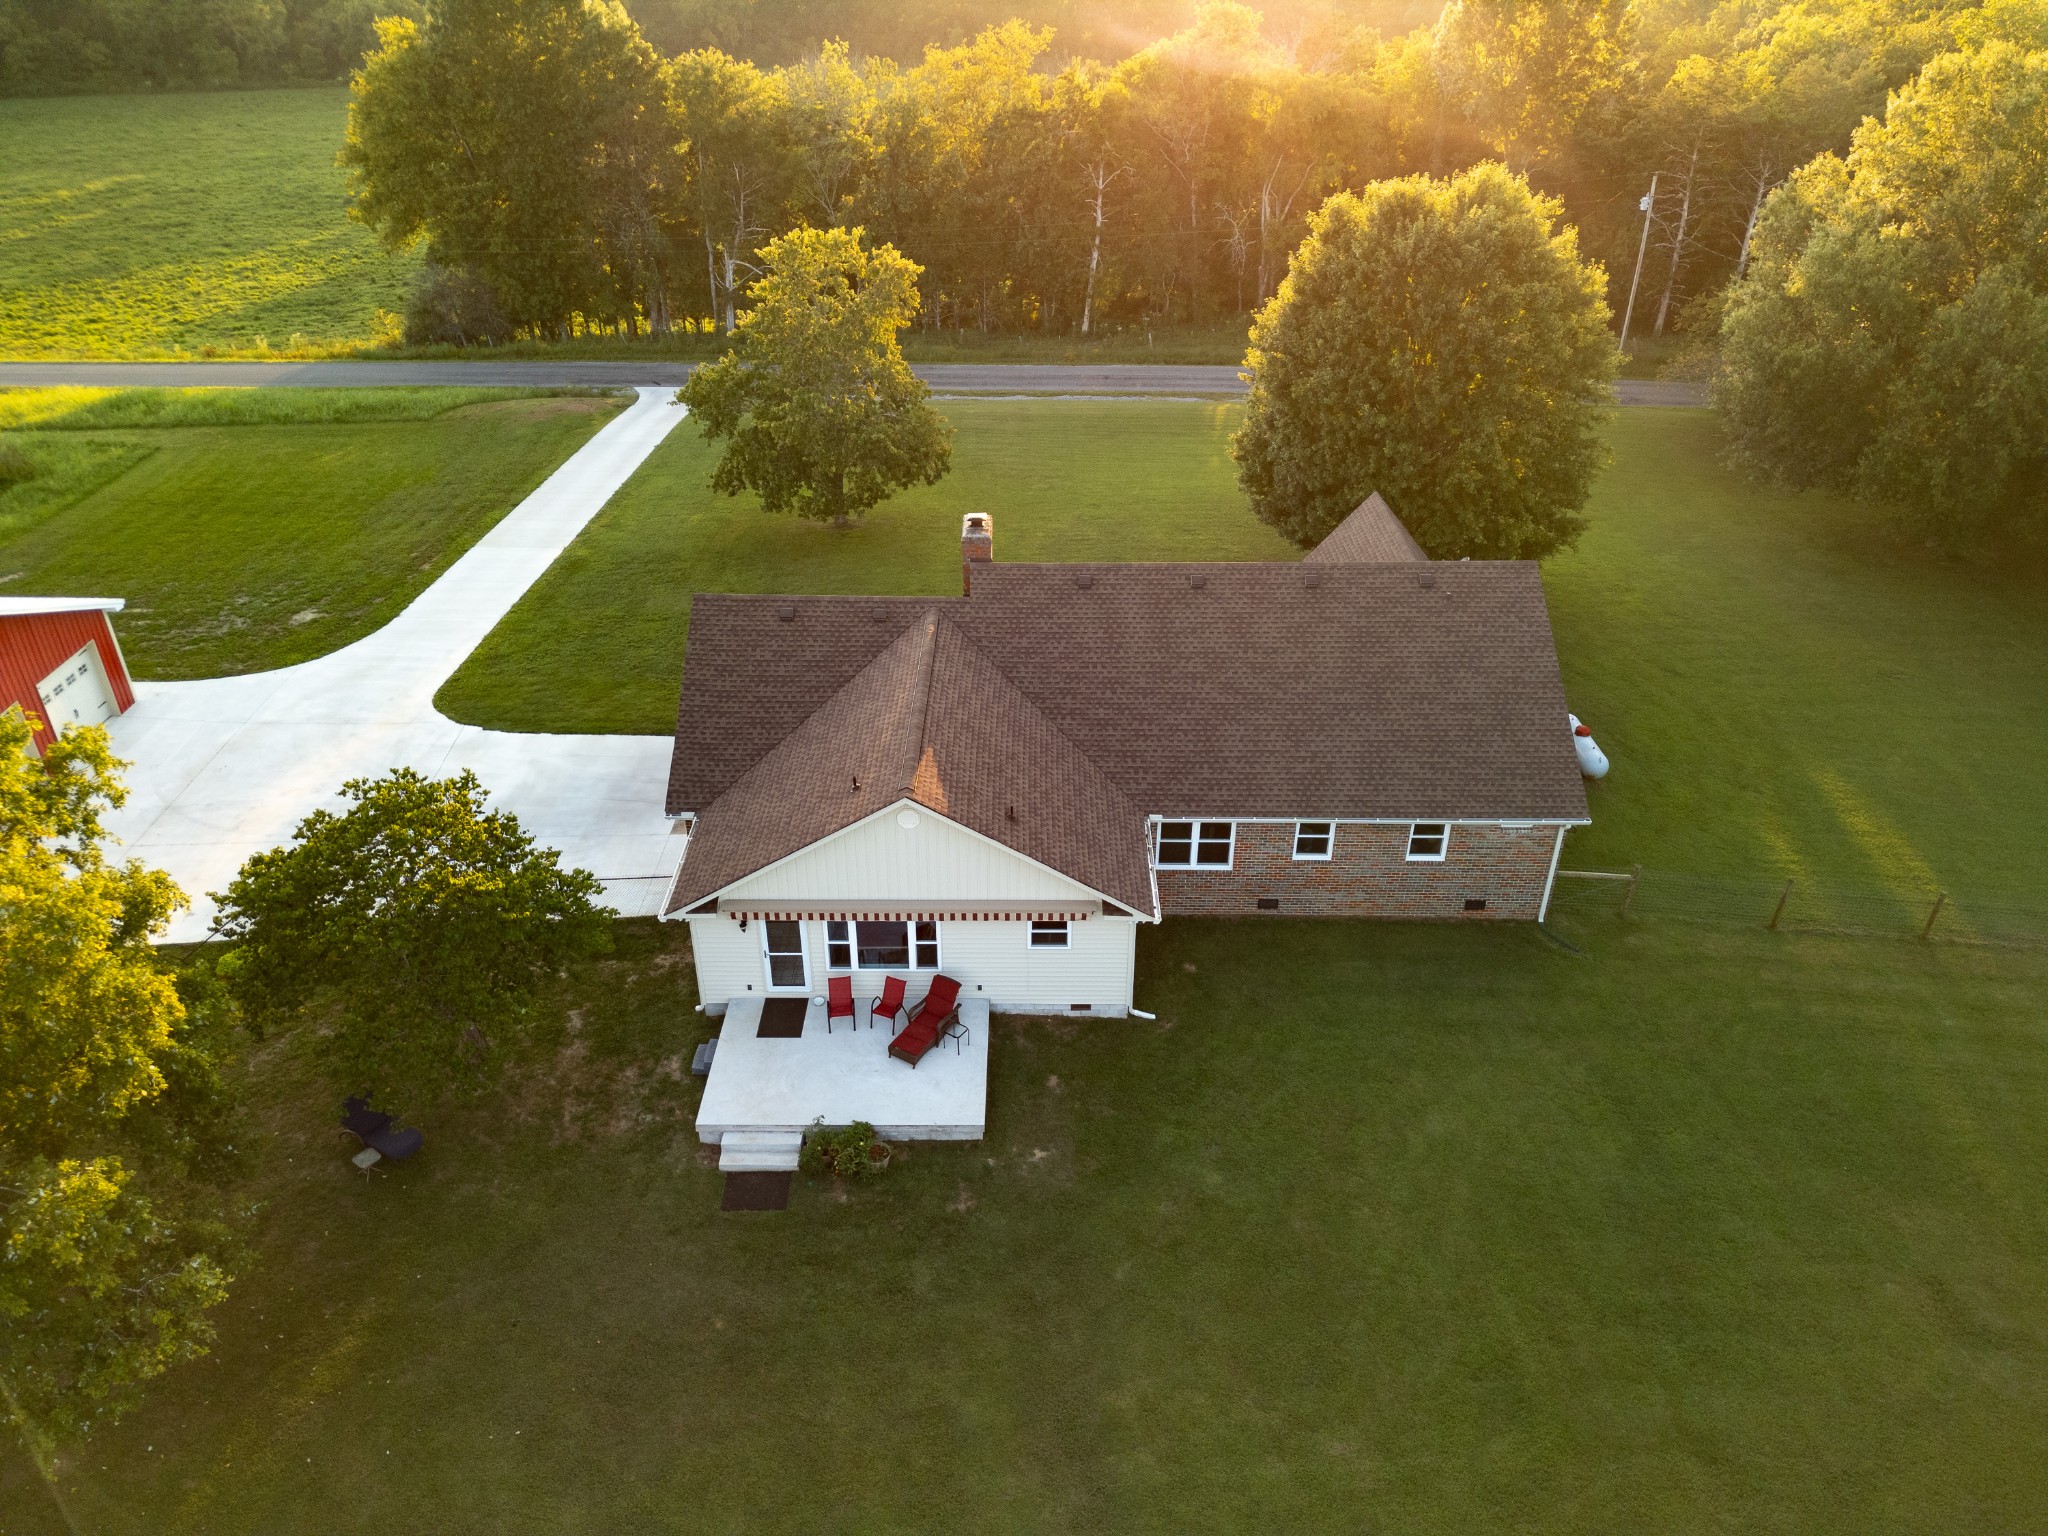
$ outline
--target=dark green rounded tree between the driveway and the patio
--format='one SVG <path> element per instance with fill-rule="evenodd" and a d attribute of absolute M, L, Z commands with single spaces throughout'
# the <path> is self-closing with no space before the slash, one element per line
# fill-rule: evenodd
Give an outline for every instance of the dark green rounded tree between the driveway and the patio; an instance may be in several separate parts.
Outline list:
<path fill-rule="evenodd" d="M 477 776 L 342 786 L 219 899 L 221 977 L 258 1028 L 311 1022 L 334 1075 L 387 1100 L 485 1081 L 541 983 L 610 942 L 596 877 L 561 868 Z"/>

